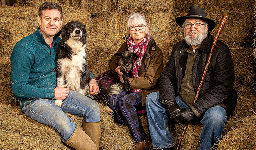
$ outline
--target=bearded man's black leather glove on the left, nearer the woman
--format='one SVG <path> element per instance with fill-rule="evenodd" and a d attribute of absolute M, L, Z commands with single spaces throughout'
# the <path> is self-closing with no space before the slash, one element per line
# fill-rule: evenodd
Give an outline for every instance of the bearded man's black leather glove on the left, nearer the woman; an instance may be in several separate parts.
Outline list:
<path fill-rule="evenodd" d="M 172 117 L 174 114 L 179 113 L 181 111 L 181 107 L 175 103 L 173 100 L 166 100 L 165 102 L 165 108 L 167 109 L 167 113 L 170 117 L 171 120 L 173 120 L 173 122 L 175 124 L 181 125 L 181 123 L 179 123 L 176 119 L 176 117 Z"/>

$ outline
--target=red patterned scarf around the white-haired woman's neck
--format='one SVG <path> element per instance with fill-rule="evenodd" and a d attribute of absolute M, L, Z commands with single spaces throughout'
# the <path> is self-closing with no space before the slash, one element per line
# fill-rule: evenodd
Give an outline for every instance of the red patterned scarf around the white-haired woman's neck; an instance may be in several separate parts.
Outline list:
<path fill-rule="evenodd" d="M 133 78 L 139 77 L 139 67 L 141 66 L 142 58 L 146 52 L 147 45 L 149 44 L 149 39 L 147 38 L 147 34 L 144 37 L 144 39 L 138 43 L 135 44 L 133 42 L 133 38 L 131 36 L 128 36 L 127 40 L 127 48 L 130 52 L 136 53 L 139 58 L 134 60 L 133 59 Z M 140 89 L 134 89 L 132 92 L 141 92 Z"/>

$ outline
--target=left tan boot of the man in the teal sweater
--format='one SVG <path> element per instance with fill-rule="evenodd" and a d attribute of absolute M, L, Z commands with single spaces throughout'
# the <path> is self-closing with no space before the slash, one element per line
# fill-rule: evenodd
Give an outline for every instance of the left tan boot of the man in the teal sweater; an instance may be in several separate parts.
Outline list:
<path fill-rule="evenodd" d="M 75 148 L 76 150 L 97 150 L 95 143 L 85 133 L 85 131 L 78 126 L 75 127 L 75 131 L 64 143 Z"/>

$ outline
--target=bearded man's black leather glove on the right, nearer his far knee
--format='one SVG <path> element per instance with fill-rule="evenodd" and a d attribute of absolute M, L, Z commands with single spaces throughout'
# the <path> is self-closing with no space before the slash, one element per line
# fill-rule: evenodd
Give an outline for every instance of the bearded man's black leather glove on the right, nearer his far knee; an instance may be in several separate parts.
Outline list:
<path fill-rule="evenodd" d="M 195 118 L 191 108 L 182 108 L 179 113 L 174 114 L 171 119 L 177 119 L 181 124 L 187 124 Z"/>

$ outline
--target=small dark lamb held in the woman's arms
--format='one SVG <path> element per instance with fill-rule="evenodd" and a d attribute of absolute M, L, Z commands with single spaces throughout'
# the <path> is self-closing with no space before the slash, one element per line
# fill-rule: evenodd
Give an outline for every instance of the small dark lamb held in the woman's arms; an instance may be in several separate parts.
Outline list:
<path fill-rule="evenodd" d="M 115 56 L 121 56 L 118 60 L 118 66 L 120 71 L 123 73 L 123 80 L 125 84 L 125 90 L 131 92 L 128 77 L 132 77 L 133 70 L 133 59 L 138 59 L 139 56 L 136 53 L 130 51 L 118 52 L 114 54 Z"/>

